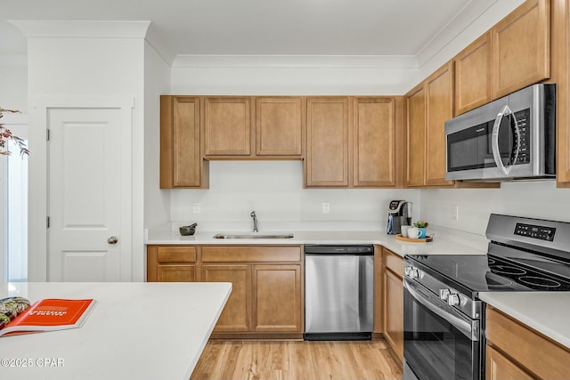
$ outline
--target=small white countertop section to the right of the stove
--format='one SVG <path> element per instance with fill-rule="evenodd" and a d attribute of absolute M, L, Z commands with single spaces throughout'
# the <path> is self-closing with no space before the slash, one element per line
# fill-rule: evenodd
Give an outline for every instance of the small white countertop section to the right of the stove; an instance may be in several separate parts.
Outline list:
<path fill-rule="evenodd" d="M 570 349 L 570 292 L 493 292 L 479 298 Z"/>

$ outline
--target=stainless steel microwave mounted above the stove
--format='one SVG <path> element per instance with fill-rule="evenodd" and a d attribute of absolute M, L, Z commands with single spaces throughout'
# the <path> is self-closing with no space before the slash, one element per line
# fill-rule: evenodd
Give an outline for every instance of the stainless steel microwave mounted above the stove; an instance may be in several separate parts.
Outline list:
<path fill-rule="evenodd" d="M 556 85 L 531 85 L 445 122 L 446 180 L 555 178 Z"/>

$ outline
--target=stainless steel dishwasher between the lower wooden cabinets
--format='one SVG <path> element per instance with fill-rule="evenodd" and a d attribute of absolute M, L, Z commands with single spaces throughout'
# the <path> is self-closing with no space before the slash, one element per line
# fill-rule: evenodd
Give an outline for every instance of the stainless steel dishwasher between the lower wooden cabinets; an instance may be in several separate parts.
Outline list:
<path fill-rule="evenodd" d="M 374 247 L 305 246 L 305 340 L 370 340 Z"/>

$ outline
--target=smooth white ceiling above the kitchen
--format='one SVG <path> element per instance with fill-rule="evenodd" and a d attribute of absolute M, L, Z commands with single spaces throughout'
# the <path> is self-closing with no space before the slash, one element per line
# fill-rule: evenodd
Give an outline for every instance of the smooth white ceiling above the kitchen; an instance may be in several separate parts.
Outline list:
<path fill-rule="evenodd" d="M 26 52 L 7 20 L 151 20 L 173 54 L 416 55 L 476 1 L 0 0 L 0 53 Z"/>

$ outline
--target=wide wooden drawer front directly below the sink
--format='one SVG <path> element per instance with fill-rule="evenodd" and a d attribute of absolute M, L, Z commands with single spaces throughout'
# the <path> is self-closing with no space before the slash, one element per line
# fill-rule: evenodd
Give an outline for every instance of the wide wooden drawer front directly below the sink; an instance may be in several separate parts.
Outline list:
<path fill-rule="evenodd" d="M 202 262 L 300 262 L 299 246 L 232 246 L 202 247 Z"/>

